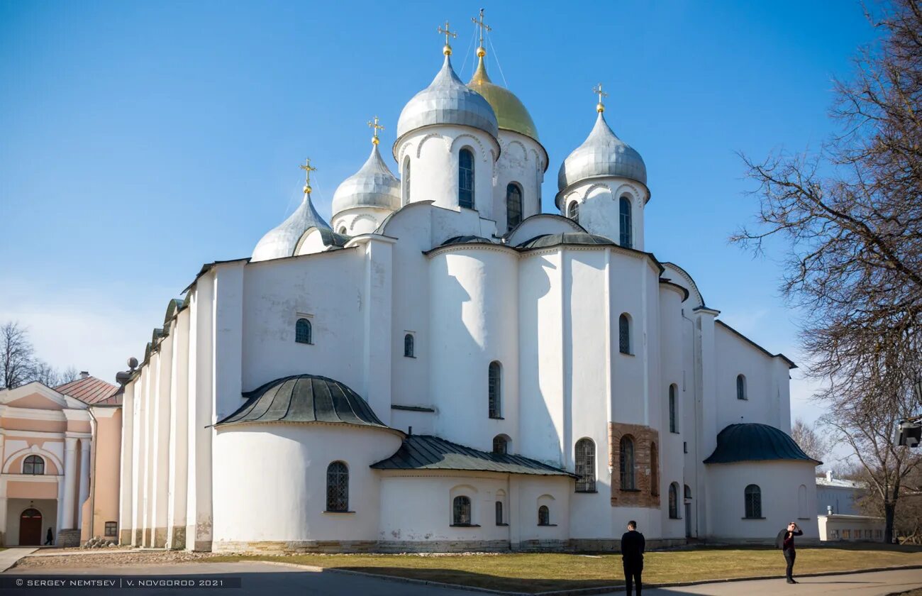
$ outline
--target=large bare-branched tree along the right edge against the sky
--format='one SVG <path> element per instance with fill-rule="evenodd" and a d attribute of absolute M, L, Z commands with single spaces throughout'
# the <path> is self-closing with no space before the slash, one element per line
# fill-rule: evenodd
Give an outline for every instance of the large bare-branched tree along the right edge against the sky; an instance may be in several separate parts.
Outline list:
<path fill-rule="evenodd" d="M 881 42 L 836 81 L 842 132 L 815 154 L 743 157 L 757 182 L 758 224 L 731 240 L 762 252 L 786 240 L 782 289 L 807 313 L 810 375 L 827 386 L 824 421 L 867 472 L 892 539 L 918 456 L 896 423 L 922 404 L 922 4 L 892 0 L 868 15 Z"/>

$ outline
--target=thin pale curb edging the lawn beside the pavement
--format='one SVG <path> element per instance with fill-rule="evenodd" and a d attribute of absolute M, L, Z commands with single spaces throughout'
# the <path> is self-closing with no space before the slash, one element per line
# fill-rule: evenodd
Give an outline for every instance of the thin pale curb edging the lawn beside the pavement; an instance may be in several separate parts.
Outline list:
<path fill-rule="evenodd" d="M 442 581 L 432 581 L 431 579 L 401 578 L 399 576 L 386 576 L 366 571 L 352 571 L 351 569 L 339 569 L 337 567 L 318 567 L 313 565 L 301 565 L 298 563 L 286 563 L 284 561 L 258 561 L 250 559 L 241 561 L 241 563 L 267 563 L 269 565 L 299 567 L 311 571 L 332 571 L 354 576 L 364 576 L 367 578 L 386 579 L 387 581 L 396 581 L 408 584 L 418 584 L 422 586 L 433 586 L 436 588 L 450 588 L 453 590 L 466 590 L 483 592 L 487 594 L 501 594 L 502 596 L 583 596 L 588 594 L 605 594 L 609 592 L 624 591 L 624 586 L 597 586 L 596 588 L 580 588 L 577 590 L 552 590 L 544 592 L 510 592 L 502 590 L 490 590 L 489 588 L 478 588 L 476 586 L 464 586 L 461 584 L 449 584 Z M 845 571 L 825 571 L 820 573 L 799 573 L 798 578 L 823 578 L 827 576 L 846 576 L 859 573 L 876 573 L 880 571 L 900 571 L 903 569 L 922 569 L 922 565 L 900 565 L 889 567 L 870 567 L 868 569 L 851 569 Z M 701 586 L 703 584 L 730 583 L 736 581 L 758 581 L 760 579 L 783 579 L 784 575 L 774 576 L 752 576 L 749 578 L 724 578 L 724 579 L 702 579 L 698 581 L 673 581 L 659 584 L 644 583 L 644 588 L 651 590 L 656 588 L 680 588 L 684 586 Z"/>

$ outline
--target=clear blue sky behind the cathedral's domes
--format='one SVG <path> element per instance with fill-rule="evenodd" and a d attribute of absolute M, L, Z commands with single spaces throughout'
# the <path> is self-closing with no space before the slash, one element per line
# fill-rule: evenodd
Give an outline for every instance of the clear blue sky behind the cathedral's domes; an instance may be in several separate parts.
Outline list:
<path fill-rule="evenodd" d="M 816 148 L 835 130 L 832 77 L 875 35 L 847 0 L 0 0 L 0 320 L 27 324 L 53 364 L 111 380 L 202 263 L 248 256 L 294 208 L 304 157 L 329 216 L 367 157 L 365 123 L 382 118 L 389 148 L 438 70 L 445 19 L 470 77 L 481 6 L 491 77 L 526 103 L 550 155 L 544 210 L 601 81 L 609 124 L 646 161 L 646 248 L 686 268 L 730 325 L 797 359 L 776 263 L 727 244 L 756 209 L 736 152 Z M 795 413 L 815 418 L 798 380 L 795 393 Z"/>

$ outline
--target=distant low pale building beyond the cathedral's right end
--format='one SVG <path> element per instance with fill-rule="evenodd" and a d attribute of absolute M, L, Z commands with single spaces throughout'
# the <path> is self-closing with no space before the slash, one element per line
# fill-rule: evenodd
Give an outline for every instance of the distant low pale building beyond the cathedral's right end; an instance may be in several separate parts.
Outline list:
<path fill-rule="evenodd" d="M 833 471 L 816 479 L 817 522 L 821 541 L 881 541 L 883 518 L 861 515 L 857 501 L 868 484 L 833 478 Z"/>

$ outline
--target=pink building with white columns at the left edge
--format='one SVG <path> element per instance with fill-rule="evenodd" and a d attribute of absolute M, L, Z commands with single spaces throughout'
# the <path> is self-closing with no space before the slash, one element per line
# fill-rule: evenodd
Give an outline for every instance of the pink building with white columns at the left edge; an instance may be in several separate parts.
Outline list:
<path fill-rule="evenodd" d="M 0 390 L 0 543 L 117 541 L 121 397 L 87 373 Z"/>

